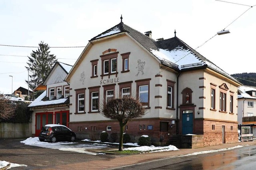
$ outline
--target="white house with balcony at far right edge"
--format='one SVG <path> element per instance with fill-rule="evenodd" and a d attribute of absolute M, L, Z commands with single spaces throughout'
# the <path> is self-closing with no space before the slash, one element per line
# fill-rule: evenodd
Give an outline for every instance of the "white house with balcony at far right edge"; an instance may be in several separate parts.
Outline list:
<path fill-rule="evenodd" d="M 238 125 L 245 139 L 256 138 L 256 87 L 238 87 Z"/>

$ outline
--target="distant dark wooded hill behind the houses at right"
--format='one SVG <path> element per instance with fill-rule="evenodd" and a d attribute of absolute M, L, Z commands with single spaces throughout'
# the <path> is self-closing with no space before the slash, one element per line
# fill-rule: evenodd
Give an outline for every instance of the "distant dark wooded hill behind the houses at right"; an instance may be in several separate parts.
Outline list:
<path fill-rule="evenodd" d="M 244 86 L 256 87 L 256 72 L 250 72 L 250 73 L 244 72 L 240 74 L 231 74 L 231 76 L 236 78 Z"/>

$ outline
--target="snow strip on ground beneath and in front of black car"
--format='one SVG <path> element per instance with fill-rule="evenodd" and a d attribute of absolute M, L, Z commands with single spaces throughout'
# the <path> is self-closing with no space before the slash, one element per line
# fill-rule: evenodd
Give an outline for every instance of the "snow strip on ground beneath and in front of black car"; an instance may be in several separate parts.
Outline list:
<path fill-rule="evenodd" d="M 78 143 L 74 143 L 74 142 L 56 142 L 56 143 L 50 143 L 47 141 L 40 142 L 38 137 L 34 137 L 34 138 L 30 137 L 24 141 L 21 141 L 21 143 L 24 143 L 25 145 L 36 146 L 36 147 L 58 149 L 58 150 L 64 150 L 64 151 L 93 154 L 93 155 L 96 155 L 96 153 L 88 152 L 88 151 L 86 151 L 86 149 L 108 148 L 107 146 L 104 146 L 104 145 L 78 144 Z"/>

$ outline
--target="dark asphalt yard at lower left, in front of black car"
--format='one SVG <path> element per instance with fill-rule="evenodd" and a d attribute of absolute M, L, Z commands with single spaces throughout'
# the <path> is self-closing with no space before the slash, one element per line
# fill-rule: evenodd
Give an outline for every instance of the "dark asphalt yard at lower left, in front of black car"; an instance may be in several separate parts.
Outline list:
<path fill-rule="evenodd" d="M 78 152 L 62 151 L 34 147 L 20 143 L 25 139 L 0 139 L 0 160 L 27 166 L 15 167 L 15 170 L 40 169 L 63 164 L 106 160 L 116 155 L 90 155 Z"/>

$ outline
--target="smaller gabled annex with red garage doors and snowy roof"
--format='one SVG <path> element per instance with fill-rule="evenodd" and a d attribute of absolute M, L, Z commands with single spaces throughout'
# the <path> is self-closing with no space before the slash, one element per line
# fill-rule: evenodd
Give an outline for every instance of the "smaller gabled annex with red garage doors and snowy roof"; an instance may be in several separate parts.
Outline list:
<path fill-rule="evenodd" d="M 64 81 L 71 65 L 56 62 L 42 85 L 46 90 L 28 107 L 32 113 L 32 135 L 38 136 L 46 124 L 61 124 L 68 127 L 69 122 L 69 84 Z"/>

